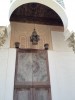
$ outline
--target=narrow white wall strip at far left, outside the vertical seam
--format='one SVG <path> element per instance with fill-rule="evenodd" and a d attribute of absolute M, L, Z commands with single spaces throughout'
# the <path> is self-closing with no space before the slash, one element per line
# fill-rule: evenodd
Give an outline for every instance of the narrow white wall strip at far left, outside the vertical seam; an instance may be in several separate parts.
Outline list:
<path fill-rule="evenodd" d="M 8 66 L 8 50 L 0 49 L 0 100 L 5 100 L 5 84 Z"/>

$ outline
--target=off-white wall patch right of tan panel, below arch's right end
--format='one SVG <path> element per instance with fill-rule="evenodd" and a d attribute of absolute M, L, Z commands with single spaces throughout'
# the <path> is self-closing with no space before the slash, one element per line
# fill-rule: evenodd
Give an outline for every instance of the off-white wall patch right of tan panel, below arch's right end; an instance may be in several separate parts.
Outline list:
<path fill-rule="evenodd" d="M 53 51 L 72 51 L 72 48 L 68 47 L 63 32 L 51 31 Z"/>

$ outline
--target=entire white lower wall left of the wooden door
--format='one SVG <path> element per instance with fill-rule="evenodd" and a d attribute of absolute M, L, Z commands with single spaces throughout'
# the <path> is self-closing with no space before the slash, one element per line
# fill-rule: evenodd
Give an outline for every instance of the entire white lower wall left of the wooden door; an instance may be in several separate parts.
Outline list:
<path fill-rule="evenodd" d="M 0 100 L 13 100 L 15 49 L 0 49 Z"/>

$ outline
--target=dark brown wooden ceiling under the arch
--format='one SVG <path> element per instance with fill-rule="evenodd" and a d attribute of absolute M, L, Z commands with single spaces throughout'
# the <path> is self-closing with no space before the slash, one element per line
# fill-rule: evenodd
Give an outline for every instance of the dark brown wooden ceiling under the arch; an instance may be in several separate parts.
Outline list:
<path fill-rule="evenodd" d="M 12 13 L 10 21 L 63 26 L 59 15 L 51 8 L 39 3 L 27 3 Z"/>

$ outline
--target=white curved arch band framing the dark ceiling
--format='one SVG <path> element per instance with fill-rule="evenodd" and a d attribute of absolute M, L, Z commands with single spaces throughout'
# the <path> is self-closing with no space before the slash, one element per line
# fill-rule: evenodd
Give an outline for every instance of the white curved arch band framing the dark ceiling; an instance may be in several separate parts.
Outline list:
<path fill-rule="evenodd" d="M 13 13 L 13 11 L 18 8 L 19 6 L 26 4 L 26 3 L 40 3 L 43 4 L 45 6 L 48 6 L 49 8 L 53 9 L 61 18 L 62 22 L 63 22 L 63 26 L 64 26 L 64 31 L 67 29 L 67 25 L 68 25 L 68 19 L 67 19 L 67 15 L 64 11 L 64 9 L 58 5 L 55 1 L 53 0 L 45 0 L 45 1 L 40 1 L 40 0 L 22 0 L 20 2 L 20 0 L 15 0 L 9 10 L 9 18 L 11 16 L 11 14 Z"/>

